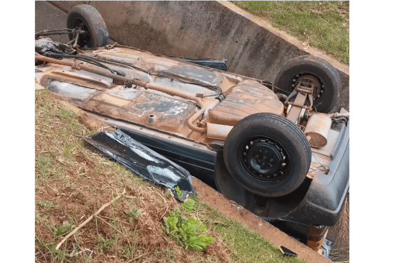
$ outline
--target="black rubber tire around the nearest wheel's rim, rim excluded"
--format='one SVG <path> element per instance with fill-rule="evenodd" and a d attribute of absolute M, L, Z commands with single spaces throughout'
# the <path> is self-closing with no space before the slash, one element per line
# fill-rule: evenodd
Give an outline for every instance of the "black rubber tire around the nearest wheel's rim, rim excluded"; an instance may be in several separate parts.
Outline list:
<path fill-rule="evenodd" d="M 261 130 L 261 132 L 260 132 Z M 272 134 L 269 134 L 272 131 Z M 247 135 L 245 135 L 247 134 Z M 237 163 L 239 146 L 247 141 L 247 136 L 267 136 L 274 140 L 285 137 L 286 151 L 290 151 L 290 171 L 287 179 L 274 184 L 265 185 L 251 183 L 244 177 L 242 168 Z M 276 139 L 275 139 L 276 138 Z M 242 119 L 228 134 L 224 143 L 224 161 L 229 174 L 248 191 L 262 196 L 283 196 L 297 189 L 304 181 L 311 162 L 311 148 L 302 130 L 283 116 L 261 112 Z M 291 161 L 292 160 L 292 161 Z M 237 163 L 237 164 L 236 164 Z M 296 168 L 297 166 L 297 168 Z M 294 170 L 295 169 L 295 170 Z M 245 179 L 246 178 L 246 179 Z"/>

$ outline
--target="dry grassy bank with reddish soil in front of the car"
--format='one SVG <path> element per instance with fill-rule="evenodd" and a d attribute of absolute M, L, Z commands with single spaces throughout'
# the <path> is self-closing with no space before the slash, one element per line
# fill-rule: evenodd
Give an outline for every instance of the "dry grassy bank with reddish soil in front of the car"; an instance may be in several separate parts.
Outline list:
<path fill-rule="evenodd" d="M 92 152 L 75 135 L 95 131 L 78 120 L 49 91 L 35 92 L 35 262 L 305 262 L 283 256 L 259 234 L 229 221 L 197 197 L 182 205 L 162 187 L 146 184 L 123 165 Z M 55 249 L 123 189 L 127 197 Z M 195 218 L 190 224 L 201 221 L 204 233 L 214 235 L 212 245 L 225 253 L 177 245 L 161 228 L 175 208 Z"/>

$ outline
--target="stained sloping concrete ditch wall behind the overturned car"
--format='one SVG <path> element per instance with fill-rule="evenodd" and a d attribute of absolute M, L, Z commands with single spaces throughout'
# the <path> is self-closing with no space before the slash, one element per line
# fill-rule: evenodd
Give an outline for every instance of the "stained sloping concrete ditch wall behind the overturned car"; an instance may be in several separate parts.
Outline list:
<path fill-rule="evenodd" d="M 252 78 L 274 81 L 287 61 L 308 54 L 216 1 L 50 2 L 66 12 L 78 4 L 94 6 L 120 44 L 164 55 L 224 58 L 228 71 Z M 339 106 L 348 110 L 349 76 L 339 73 Z"/>

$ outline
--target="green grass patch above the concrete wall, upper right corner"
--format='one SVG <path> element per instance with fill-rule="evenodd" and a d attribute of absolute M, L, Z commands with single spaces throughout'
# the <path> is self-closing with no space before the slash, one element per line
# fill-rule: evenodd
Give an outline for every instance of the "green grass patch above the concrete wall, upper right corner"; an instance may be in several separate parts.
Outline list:
<path fill-rule="evenodd" d="M 348 1 L 232 1 L 338 61 L 349 64 Z"/>

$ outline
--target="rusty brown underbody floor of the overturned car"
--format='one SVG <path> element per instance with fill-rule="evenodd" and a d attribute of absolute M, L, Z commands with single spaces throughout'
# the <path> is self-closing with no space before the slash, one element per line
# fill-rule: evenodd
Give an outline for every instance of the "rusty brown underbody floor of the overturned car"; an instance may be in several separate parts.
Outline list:
<path fill-rule="evenodd" d="M 246 116 L 284 115 L 283 103 L 259 80 L 125 46 L 88 49 L 85 55 L 105 61 L 124 76 L 89 63 L 36 54 L 37 60 L 54 63 L 36 66 L 42 71 L 36 80 L 100 116 L 205 144 L 223 141 Z M 338 132 L 331 130 L 328 137 L 326 146 L 313 149 L 310 178 L 330 163 Z"/>

